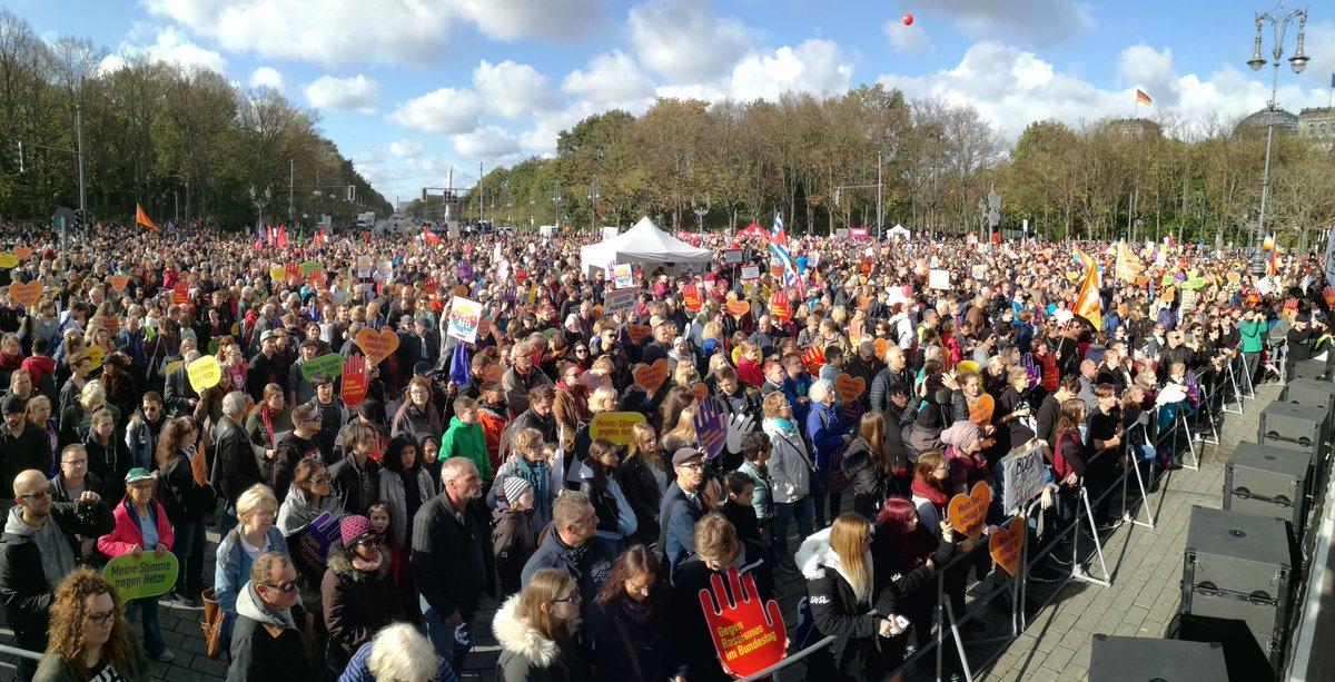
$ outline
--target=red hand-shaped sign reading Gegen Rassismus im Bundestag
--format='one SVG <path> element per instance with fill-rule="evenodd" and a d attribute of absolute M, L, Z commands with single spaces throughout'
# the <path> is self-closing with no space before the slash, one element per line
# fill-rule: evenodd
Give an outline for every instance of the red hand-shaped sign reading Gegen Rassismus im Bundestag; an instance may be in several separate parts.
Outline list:
<path fill-rule="evenodd" d="M 756 578 L 748 573 L 738 579 L 736 566 L 728 567 L 726 591 L 718 574 L 712 575 L 709 582 L 713 590 L 700 591 L 700 607 L 705 610 L 709 637 L 714 641 L 724 670 L 744 678 L 782 661 L 788 655 L 788 630 L 784 629 L 778 602 L 770 599 L 762 603 Z"/>

